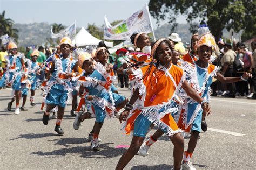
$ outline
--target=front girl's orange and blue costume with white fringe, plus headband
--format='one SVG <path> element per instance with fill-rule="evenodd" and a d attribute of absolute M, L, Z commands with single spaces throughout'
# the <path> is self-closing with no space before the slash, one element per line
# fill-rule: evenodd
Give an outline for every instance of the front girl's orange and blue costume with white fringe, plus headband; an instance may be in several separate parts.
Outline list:
<path fill-rule="evenodd" d="M 164 40 L 166 39 L 159 39 L 154 44 L 151 56 L 154 56 L 158 45 Z M 133 76 L 136 80 L 133 88 L 139 89 L 140 97 L 133 104 L 133 110 L 123 124 L 126 134 L 133 131 L 134 136 L 145 137 L 151 123 L 158 125 L 167 136 L 180 132 L 170 114 L 178 111 L 174 107 L 174 98 L 180 101 L 179 89 L 185 80 L 183 70 L 171 63 L 167 69 L 151 63 L 134 70 Z"/>

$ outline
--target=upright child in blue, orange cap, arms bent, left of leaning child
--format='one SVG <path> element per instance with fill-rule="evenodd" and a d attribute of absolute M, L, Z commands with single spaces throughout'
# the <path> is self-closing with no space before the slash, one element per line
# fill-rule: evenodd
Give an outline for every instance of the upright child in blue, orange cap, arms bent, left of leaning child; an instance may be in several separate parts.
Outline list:
<path fill-rule="evenodd" d="M 60 40 L 60 50 L 62 55 L 52 56 L 53 62 L 49 74 L 52 73 L 50 80 L 46 83 L 46 110 L 43 115 L 44 125 L 48 124 L 50 111 L 58 106 L 57 121 L 55 131 L 63 135 L 64 132 L 60 128 L 62 118 L 65 111 L 66 102 L 71 95 L 73 87 L 71 84 L 71 77 L 78 74 L 78 64 L 76 60 L 71 57 L 72 42 L 69 37 L 64 37 Z M 72 70 L 75 73 L 72 74 Z"/>

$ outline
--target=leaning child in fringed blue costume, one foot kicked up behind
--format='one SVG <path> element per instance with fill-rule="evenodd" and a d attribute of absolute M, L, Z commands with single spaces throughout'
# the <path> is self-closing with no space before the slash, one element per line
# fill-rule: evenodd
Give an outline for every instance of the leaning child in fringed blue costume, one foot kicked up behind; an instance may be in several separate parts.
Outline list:
<path fill-rule="evenodd" d="M 79 66 L 84 69 L 85 73 L 79 77 L 81 83 L 79 94 L 83 94 L 84 90 L 86 95 L 84 96 L 85 102 L 91 102 L 91 109 L 96 117 L 95 129 L 93 133 L 93 140 L 91 141 L 91 151 L 99 151 L 98 136 L 100 129 L 102 128 L 105 117 L 113 118 L 114 111 L 126 100 L 125 97 L 116 97 L 111 91 L 111 76 L 106 72 L 103 65 L 100 63 L 93 63 L 91 55 L 86 52 L 82 52 L 82 49 L 77 49 L 76 55 L 78 56 Z M 91 118 L 91 114 L 86 112 L 84 115 L 77 115 L 74 128 L 79 128 L 80 122 L 84 119 Z"/>

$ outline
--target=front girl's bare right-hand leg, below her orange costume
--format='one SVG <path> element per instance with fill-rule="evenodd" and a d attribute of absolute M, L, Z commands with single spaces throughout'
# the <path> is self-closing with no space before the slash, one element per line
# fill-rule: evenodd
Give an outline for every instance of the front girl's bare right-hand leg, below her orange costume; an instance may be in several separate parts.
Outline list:
<path fill-rule="evenodd" d="M 173 148 L 173 168 L 180 169 L 181 161 L 183 159 L 184 152 L 184 138 L 181 133 L 174 134 L 173 137 L 169 137 L 174 145 Z"/>

